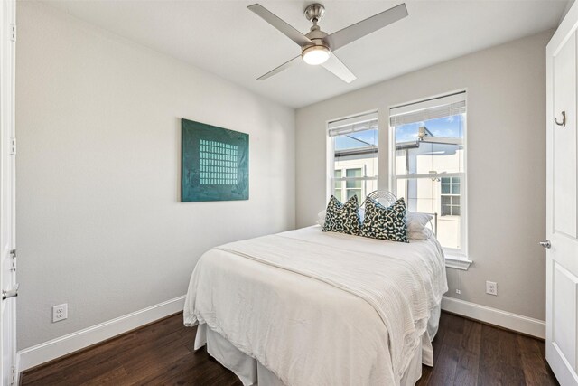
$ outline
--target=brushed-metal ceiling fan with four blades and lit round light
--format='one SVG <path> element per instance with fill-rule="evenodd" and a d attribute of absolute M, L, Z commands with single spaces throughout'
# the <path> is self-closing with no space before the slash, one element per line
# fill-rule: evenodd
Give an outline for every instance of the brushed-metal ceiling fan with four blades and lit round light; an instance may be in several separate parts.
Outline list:
<path fill-rule="evenodd" d="M 257 15 L 261 16 L 268 24 L 273 25 L 281 33 L 284 33 L 292 41 L 301 47 L 301 55 L 295 56 L 292 60 L 284 62 L 279 67 L 267 72 L 265 75 L 257 78 L 265 80 L 273 75 L 284 71 L 299 62 L 300 58 L 311 65 L 321 65 L 325 70 L 330 71 L 335 76 L 347 83 L 356 80 L 355 75 L 348 69 L 342 61 L 335 56 L 335 51 L 341 47 L 362 38 L 369 33 L 395 23 L 407 16 L 405 4 L 394 6 L 379 14 L 374 14 L 359 23 L 351 24 L 342 30 L 327 34 L 324 33 L 317 23 L 325 14 L 325 7 L 321 4 L 308 5 L 305 8 L 305 18 L 312 22 L 309 33 L 303 34 L 294 29 L 291 25 L 285 23 L 281 18 L 268 11 L 263 5 L 249 5 L 247 8 Z"/>

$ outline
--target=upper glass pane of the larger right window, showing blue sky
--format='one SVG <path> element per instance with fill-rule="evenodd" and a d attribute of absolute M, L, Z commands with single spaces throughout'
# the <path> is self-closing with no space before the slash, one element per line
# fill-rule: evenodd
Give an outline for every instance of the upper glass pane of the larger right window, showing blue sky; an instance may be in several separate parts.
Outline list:
<path fill-rule="evenodd" d="M 463 172 L 464 123 L 461 114 L 396 126 L 396 174 Z"/>

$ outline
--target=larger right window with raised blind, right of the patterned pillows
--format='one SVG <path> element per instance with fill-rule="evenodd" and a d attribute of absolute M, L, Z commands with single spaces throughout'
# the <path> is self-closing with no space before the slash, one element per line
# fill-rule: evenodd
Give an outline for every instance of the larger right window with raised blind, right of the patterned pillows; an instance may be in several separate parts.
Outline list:
<path fill-rule="evenodd" d="M 437 213 L 437 239 L 465 254 L 466 93 L 389 111 L 393 132 L 392 190 L 408 209 Z"/>

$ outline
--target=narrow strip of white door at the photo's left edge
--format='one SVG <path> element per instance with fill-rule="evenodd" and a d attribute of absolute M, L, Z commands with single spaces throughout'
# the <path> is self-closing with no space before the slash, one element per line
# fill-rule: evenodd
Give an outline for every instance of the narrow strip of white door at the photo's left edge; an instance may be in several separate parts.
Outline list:
<path fill-rule="evenodd" d="M 16 379 L 15 363 L 15 254 L 14 254 L 14 46 L 15 1 L 3 0 L 0 33 L 0 379 Z M 14 26 L 14 28 L 13 28 Z M 13 259 L 14 258 L 14 259 Z"/>

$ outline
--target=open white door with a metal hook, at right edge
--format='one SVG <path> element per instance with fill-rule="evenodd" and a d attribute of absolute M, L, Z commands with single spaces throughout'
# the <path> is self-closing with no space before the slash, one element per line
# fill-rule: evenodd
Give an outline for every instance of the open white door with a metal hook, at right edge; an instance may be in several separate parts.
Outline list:
<path fill-rule="evenodd" d="M 546 359 L 578 385 L 577 67 L 574 4 L 546 49 Z"/>

